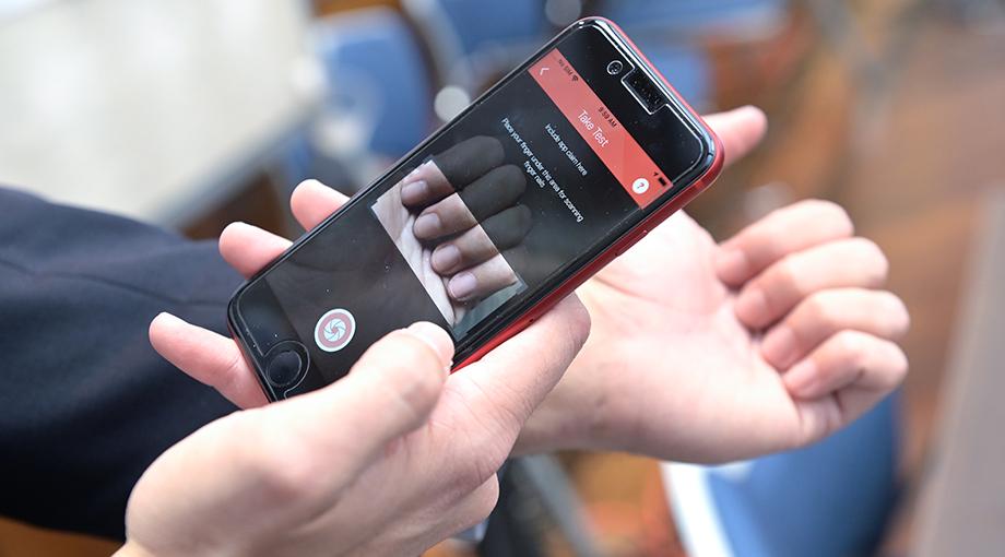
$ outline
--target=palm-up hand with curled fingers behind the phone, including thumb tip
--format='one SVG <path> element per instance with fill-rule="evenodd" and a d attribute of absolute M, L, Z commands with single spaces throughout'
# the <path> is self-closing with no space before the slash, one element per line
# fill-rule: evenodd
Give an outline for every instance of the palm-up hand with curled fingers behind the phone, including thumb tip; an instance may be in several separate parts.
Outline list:
<path fill-rule="evenodd" d="M 755 109 L 708 118 L 735 159 Z M 887 261 L 838 205 L 804 201 L 717 246 L 678 213 L 579 289 L 586 347 L 518 450 L 625 450 L 720 462 L 805 446 L 907 372 L 909 317 Z"/>

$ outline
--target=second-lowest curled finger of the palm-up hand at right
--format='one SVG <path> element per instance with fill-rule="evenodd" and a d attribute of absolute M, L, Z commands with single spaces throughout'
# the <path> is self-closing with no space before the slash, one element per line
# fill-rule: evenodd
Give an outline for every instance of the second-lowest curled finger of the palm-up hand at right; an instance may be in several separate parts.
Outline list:
<path fill-rule="evenodd" d="M 907 307 L 892 293 L 863 288 L 823 291 L 806 297 L 784 321 L 771 328 L 760 352 L 777 369 L 788 369 L 841 330 L 897 340 L 910 322 Z"/>

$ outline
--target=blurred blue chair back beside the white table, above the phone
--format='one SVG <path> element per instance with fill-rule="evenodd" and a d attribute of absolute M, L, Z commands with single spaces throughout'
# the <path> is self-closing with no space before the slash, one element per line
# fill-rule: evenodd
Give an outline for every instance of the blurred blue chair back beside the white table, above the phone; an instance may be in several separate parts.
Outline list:
<path fill-rule="evenodd" d="M 352 192 L 428 135 L 435 123 L 428 66 L 409 25 L 386 8 L 321 20 L 311 38 L 326 95 L 291 141 L 281 180 L 292 188 L 318 178 Z"/>

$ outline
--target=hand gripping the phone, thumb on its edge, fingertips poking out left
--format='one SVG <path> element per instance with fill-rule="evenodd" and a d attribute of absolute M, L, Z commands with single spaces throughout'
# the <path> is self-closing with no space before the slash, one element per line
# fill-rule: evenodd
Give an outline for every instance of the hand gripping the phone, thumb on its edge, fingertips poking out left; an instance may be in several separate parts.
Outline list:
<path fill-rule="evenodd" d="M 317 182 L 292 200 L 307 228 L 342 202 Z M 288 246 L 234 224 L 220 247 L 250 275 Z M 453 348 L 444 331 L 422 324 L 391 333 L 346 378 L 238 412 L 165 453 L 130 499 L 123 550 L 418 554 L 488 514 L 496 470 L 588 332 L 589 316 L 572 297 L 449 378 Z M 158 316 L 150 336 L 164 357 L 238 406 L 264 404 L 232 339 L 170 316 Z"/>

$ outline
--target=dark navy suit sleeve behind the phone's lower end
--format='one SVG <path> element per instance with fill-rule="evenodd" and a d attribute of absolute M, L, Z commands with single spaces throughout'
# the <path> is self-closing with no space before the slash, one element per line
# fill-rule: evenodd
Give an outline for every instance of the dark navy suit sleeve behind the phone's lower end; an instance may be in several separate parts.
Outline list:
<path fill-rule="evenodd" d="M 146 466 L 234 410 L 147 325 L 170 311 L 224 332 L 239 282 L 213 242 L 0 189 L 0 513 L 123 537 Z"/>

